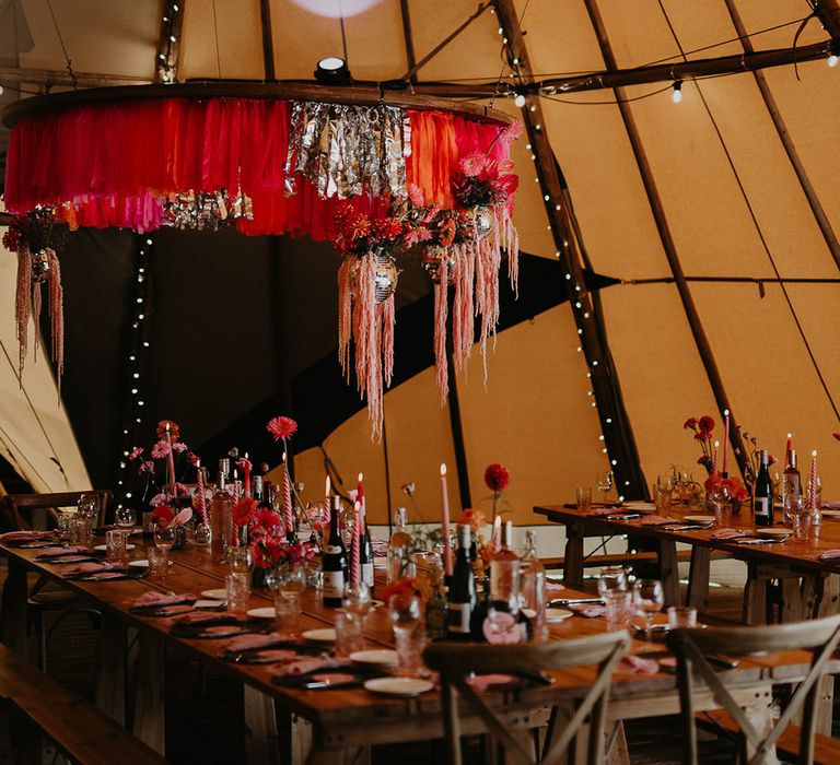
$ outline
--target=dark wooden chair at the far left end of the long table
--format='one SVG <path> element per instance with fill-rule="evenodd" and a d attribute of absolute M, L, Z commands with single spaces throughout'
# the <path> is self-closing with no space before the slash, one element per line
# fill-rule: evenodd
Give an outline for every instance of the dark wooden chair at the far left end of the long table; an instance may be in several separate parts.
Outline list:
<path fill-rule="evenodd" d="M 107 490 L 88 490 L 85 492 L 57 492 L 52 494 L 7 494 L 0 498 L 0 519 L 7 528 L 13 530 L 31 529 L 35 521 L 36 510 L 46 510 L 52 518 L 58 515 L 60 507 L 73 507 L 79 504 L 82 494 L 94 494 L 100 499 L 100 513 L 96 525 L 103 526 L 105 514 L 110 503 L 112 493 Z M 26 613 L 35 629 L 37 660 L 43 672 L 47 671 L 47 649 L 52 635 L 61 622 L 71 613 L 84 613 L 94 627 L 98 625 L 100 612 L 89 601 L 58 587 L 46 587 L 46 577 L 38 577 L 30 588 L 26 601 Z M 46 629 L 44 614 L 47 611 L 62 613 Z"/>

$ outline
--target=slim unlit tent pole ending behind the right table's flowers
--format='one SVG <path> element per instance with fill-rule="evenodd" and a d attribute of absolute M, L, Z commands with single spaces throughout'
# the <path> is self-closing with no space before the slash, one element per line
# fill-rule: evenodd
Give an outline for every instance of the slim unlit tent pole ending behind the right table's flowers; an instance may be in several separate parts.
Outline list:
<path fill-rule="evenodd" d="M 595 36 L 598 40 L 598 46 L 600 48 L 600 55 L 604 58 L 604 63 L 606 64 L 607 69 L 612 69 L 616 66 L 616 58 L 612 54 L 612 47 L 609 43 L 609 38 L 607 37 L 604 20 L 602 19 L 600 12 L 598 11 L 597 2 L 596 0 L 584 0 L 584 3 L 586 5 L 586 11 L 590 14 L 590 20 L 592 21 L 593 31 L 595 32 Z M 621 119 L 625 122 L 627 136 L 633 150 L 633 156 L 635 157 L 637 166 L 639 167 L 639 173 L 642 177 L 644 191 L 651 205 L 651 212 L 653 213 L 654 221 L 656 222 L 656 229 L 658 231 L 660 239 L 662 242 L 663 249 L 665 250 L 665 257 L 667 258 L 672 273 L 674 274 L 674 281 L 677 285 L 679 297 L 682 301 L 686 318 L 688 319 L 689 327 L 691 328 L 691 334 L 693 336 L 695 342 L 697 343 L 697 350 L 700 354 L 703 367 L 705 368 L 705 374 L 709 377 L 709 384 L 712 387 L 712 393 L 714 395 L 714 399 L 718 403 L 718 409 L 720 410 L 721 414 L 723 414 L 723 412 L 726 410 L 730 412 L 730 443 L 732 444 L 732 448 L 735 452 L 735 459 L 737 460 L 738 468 L 740 469 L 742 474 L 744 474 L 746 472 L 745 469 L 747 466 L 747 452 L 744 448 L 744 442 L 740 437 L 740 429 L 738 428 L 735 416 L 732 412 L 730 399 L 726 396 L 726 390 L 724 389 L 723 380 L 718 369 L 718 364 L 714 361 L 714 354 L 712 353 L 709 338 L 707 337 L 702 321 L 700 320 L 700 314 L 698 313 L 695 301 L 691 297 L 691 291 L 688 286 L 688 282 L 686 281 L 686 275 L 682 271 L 682 264 L 679 261 L 674 237 L 670 234 L 670 227 L 668 226 L 667 216 L 665 215 L 665 208 L 663 207 L 662 199 L 660 198 L 656 181 L 653 177 L 653 172 L 648 161 L 648 154 L 645 153 L 644 146 L 642 145 L 639 128 L 637 127 L 635 119 L 633 119 L 633 114 L 629 104 L 626 103 L 627 96 L 625 94 L 623 87 L 616 87 L 615 94 L 616 101 L 618 102 L 617 105 L 619 111 L 621 113 Z"/>

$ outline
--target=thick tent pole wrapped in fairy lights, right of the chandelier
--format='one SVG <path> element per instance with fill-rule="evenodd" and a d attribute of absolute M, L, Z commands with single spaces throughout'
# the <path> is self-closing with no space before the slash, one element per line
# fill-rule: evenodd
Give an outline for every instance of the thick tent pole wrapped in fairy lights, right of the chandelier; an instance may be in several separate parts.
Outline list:
<path fill-rule="evenodd" d="M 532 82 L 528 51 L 513 0 L 494 0 L 494 5 L 499 26 L 508 39 L 509 63 L 520 82 Z M 527 96 L 522 114 L 532 151 L 536 157 L 537 178 L 546 200 L 546 212 L 557 256 L 564 263 L 568 274 L 562 280 L 561 289 L 565 290 L 569 297 L 570 308 L 578 325 L 581 349 L 590 370 L 590 381 L 595 396 L 594 403 L 597 403 L 604 436 L 602 448 L 605 448 L 609 456 L 619 495 L 645 498 L 648 484 L 639 462 L 630 419 L 623 405 L 606 332 L 596 319 L 596 306 L 583 279 L 581 243 L 572 225 L 565 179 L 544 129 L 545 120 L 539 98 L 533 95 Z"/>

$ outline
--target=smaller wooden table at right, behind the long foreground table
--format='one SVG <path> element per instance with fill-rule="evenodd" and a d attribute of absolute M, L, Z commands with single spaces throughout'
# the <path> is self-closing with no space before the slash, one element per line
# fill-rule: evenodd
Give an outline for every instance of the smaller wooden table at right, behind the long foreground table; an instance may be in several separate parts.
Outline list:
<path fill-rule="evenodd" d="M 807 541 L 797 541 L 791 537 L 778 544 L 751 545 L 712 539 L 716 526 L 707 530 L 673 531 L 667 527 L 644 526 L 645 515 L 632 520 L 617 520 L 608 516 L 586 514 L 565 505 L 536 506 L 534 511 L 565 526 L 563 579 L 572 587 L 583 581 L 583 544 L 587 537 L 635 534 L 656 542 L 666 604 L 677 604 L 679 599 L 677 543 L 684 543 L 691 545 L 687 601 L 701 612 L 704 612 L 708 605 L 712 551 L 730 553 L 747 564 L 749 574 L 744 616 L 748 623 L 766 621 L 765 582 L 768 579 L 782 580 L 784 621 L 802 621 L 816 615 L 837 613 L 838 610 L 838 577 L 831 575 L 840 574 L 840 558 L 820 561 L 819 555 L 826 550 L 840 548 L 840 520 L 824 518 L 819 533 Z M 620 508 L 616 511 L 620 511 Z M 680 505 L 675 505 L 670 511 L 674 518 L 699 514 L 696 509 L 692 511 Z M 734 515 L 727 527 L 750 530 L 756 528 L 750 522 L 747 508 L 743 508 L 740 515 Z"/>

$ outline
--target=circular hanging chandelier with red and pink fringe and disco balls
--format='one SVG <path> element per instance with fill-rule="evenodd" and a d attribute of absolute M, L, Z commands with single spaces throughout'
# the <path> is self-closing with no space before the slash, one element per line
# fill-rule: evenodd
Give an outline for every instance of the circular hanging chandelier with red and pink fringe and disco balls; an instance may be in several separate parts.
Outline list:
<path fill-rule="evenodd" d="M 447 287 L 459 369 L 474 317 L 483 350 L 494 332 L 502 250 L 516 283 L 510 144 L 521 125 L 502 111 L 377 89 L 213 81 L 26 98 L 3 119 L 11 128 L 4 200 L 16 215 L 4 244 L 19 254 L 21 374 L 46 272 L 60 381 L 60 224 L 329 239 L 343 256 L 339 358 L 349 377 L 352 342 L 374 434 L 393 370 L 394 255 L 423 252 L 433 279 L 444 401 Z"/>

